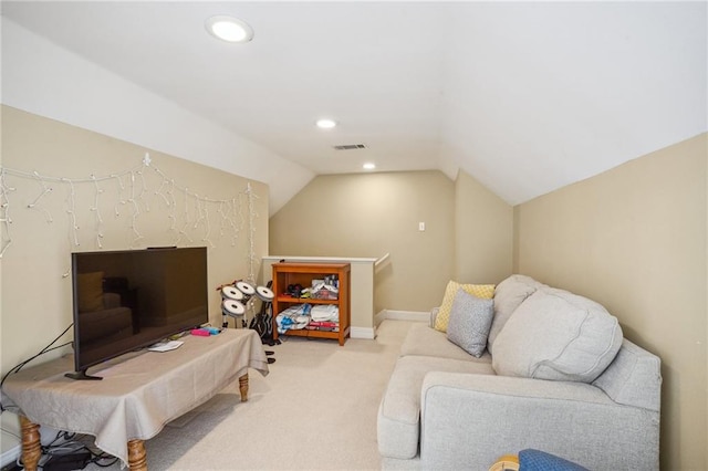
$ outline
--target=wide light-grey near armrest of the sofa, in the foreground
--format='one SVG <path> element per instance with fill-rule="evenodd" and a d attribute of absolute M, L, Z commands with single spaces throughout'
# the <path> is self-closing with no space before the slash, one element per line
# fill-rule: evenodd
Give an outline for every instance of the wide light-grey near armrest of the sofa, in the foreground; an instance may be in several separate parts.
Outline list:
<path fill-rule="evenodd" d="M 489 469 L 527 448 L 589 469 L 658 469 L 659 415 L 584 383 L 431 371 L 420 415 L 424 469 Z"/>

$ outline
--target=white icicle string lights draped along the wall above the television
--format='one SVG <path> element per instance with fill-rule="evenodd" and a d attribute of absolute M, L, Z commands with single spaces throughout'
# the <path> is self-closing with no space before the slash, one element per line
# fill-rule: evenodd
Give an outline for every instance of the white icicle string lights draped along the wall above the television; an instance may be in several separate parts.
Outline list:
<path fill-rule="evenodd" d="M 145 176 L 150 169 L 157 175 L 159 182 L 155 189 L 150 191 Z M 242 211 L 241 198 L 247 199 L 249 211 L 248 223 L 249 230 L 249 280 L 254 281 L 256 265 L 258 258 L 254 249 L 256 237 L 256 219 L 259 217 L 256 211 L 254 199 L 258 195 L 253 192 L 251 184 L 248 182 L 246 190 L 238 193 L 236 198 L 212 199 L 199 196 L 189 190 L 187 186 L 180 186 L 175 182 L 167 174 L 153 164 L 149 154 L 145 154 L 140 165 L 107 176 L 91 175 L 87 178 L 65 178 L 40 175 L 37 171 L 27 172 L 0 167 L 0 229 L 2 237 L 0 239 L 0 259 L 4 255 L 13 242 L 12 211 L 15 208 L 22 208 L 23 205 L 13 200 L 12 193 L 17 191 L 17 187 L 10 185 L 10 178 L 14 177 L 21 180 L 34 182 L 38 193 L 30 202 L 25 203 L 25 208 L 39 211 L 43 214 L 46 223 L 53 223 L 54 217 L 49 208 L 49 201 L 58 191 L 54 187 L 62 187 L 66 191 L 64 201 L 67 218 L 69 239 L 72 250 L 81 245 L 80 227 L 77 211 L 77 187 L 88 185 L 93 188 L 93 198 L 88 206 L 88 211 L 93 220 L 92 238 L 97 249 L 103 249 L 103 239 L 105 237 L 106 221 L 101 211 L 101 207 L 105 208 L 107 202 L 105 199 L 112 192 L 115 192 L 115 203 L 113 206 L 113 216 L 117 219 L 123 214 L 124 210 L 129 211 L 129 229 L 131 242 L 129 247 L 134 248 L 145 241 L 145 236 L 140 230 L 140 216 L 144 212 L 150 212 L 148 196 L 152 193 L 158 199 L 162 207 L 164 203 L 169 219 L 168 232 L 173 233 L 173 244 L 194 244 L 195 239 L 204 242 L 209 248 L 215 248 L 212 241 L 214 230 L 211 219 L 218 218 L 218 238 L 228 237 L 231 247 L 237 245 L 239 233 L 246 223 Z M 61 192 L 61 191 L 59 191 Z M 181 193 L 176 196 L 176 193 Z M 85 198 L 84 198 L 85 199 Z M 179 206 L 181 212 L 179 213 Z M 108 206 L 110 208 L 110 206 Z M 191 210 L 190 210 L 191 208 Z M 197 237 L 195 234 L 200 234 Z M 66 275 L 67 273 L 65 273 Z"/>

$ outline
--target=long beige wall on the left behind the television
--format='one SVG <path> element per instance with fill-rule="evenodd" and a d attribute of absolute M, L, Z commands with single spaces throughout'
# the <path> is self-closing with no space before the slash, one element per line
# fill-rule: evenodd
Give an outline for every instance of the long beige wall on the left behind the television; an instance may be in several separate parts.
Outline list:
<path fill-rule="evenodd" d="M 246 195 L 249 182 L 258 197 L 253 198 L 257 214 L 253 253 L 256 275 L 259 274 L 260 258 L 268 248 L 268 187 L 263 184 L 7 106 L 2 107 L 1 150 L 2 166 L 8 170 L 6 185 L 13 188 L 8 192 L 12 243 L 0 262 L 3 373 L 38 353 L 71 324 L 67 271 L 72 251 L 206 245 L 209 248 L 209 286 L 216 289 L 237 278 L 247 278 L 251 271 L 250 211 Z M 124 176 L 122 182 L 116 178 L 100 181 L 97 187 L 92 182 L 92 175 L 100 178 L 139 170 L 146 151 L 152 165 L 142 174 L 133 174 L 134 192 L 129 175 Z M 17 176 L 10 170 L 30 177 Z M 158 170 L 174 181 L 174 206 L 165 202 L 171 199 L 170 186 L 163 186 L 166 180 Z M 69 181 L 42 182 L 31 177 L 34 171 L 40 176 L 74 180 L 73 197 Z M 51 191 L 39 198 L 43 185 Z M 202 199 L 235 202 L 197 203 L 195 198 L 185 199 L 185 191 L 179 188 Z M 28 208 L 34 201 L 34 209 Z M 96 201 L 98 211 L 92 209 Z M 75 230 L 69 210 L 76 217 Z M 170 230 L 173 221 L 176 230 Z M 3 244 L 8 240 L 6 229 L 2 228 Z M 184 234 L 180 236 L 180 231 Z M 103 249 L 98 248 L 98 233 L 104 236 L 101 238 Z M 220 325 L 220 297 L 216 290 L 209 293 L 211 323 Z M 71 338 L 70 332 L 61 343 Z"/>

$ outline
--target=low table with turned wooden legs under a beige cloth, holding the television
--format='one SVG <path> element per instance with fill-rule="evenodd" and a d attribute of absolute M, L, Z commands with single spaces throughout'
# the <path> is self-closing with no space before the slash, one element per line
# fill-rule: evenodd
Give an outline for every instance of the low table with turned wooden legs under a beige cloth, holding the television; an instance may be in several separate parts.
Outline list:
<path fill-rule="evenodd" d="M 146 471 L 144 440 L 237 378 L 241 401 L 248 400 L 249 368 L 268 375 L 263 345 L 253 329 L 227 328 L 209 337 L 186 336 L 184 342 L 174 350 L 126 355 L 98 365 L 101 381 L 67 380 L 72 355 L 9 376 L 2 391 L 20 408 L 24 469 L 38 469 L 39 426 L 45 423 L 93 435 L 96 447 L 131 471 Z M 90 377 L 85 373 L 69 375 Z M 85 409 L 92 414 L 79 414 Z"/>

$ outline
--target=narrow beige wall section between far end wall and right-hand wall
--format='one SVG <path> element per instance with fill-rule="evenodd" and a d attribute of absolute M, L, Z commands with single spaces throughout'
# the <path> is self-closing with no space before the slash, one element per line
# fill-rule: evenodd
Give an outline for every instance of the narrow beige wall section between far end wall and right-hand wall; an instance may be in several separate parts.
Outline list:
<path fill-rule="evenodd" d="M 499 283 L 512 273 L 513 208 L 460 170 L 455 181 L 455 279 Z"/>

